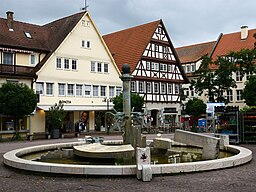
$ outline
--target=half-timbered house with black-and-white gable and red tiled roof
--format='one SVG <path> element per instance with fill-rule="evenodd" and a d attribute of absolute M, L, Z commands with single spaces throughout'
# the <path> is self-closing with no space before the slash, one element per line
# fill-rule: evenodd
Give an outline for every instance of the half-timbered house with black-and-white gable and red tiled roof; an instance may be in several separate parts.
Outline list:
<path fill-rule="evenodd" d="M 103 36 L 119 69 L 127 63 L 131 91 L 144 97 L 151 125 L 177 123 L 180 87 L 187 82 L 162 20 Z M 165 121 L 165 122 L 164 122 Z"/>

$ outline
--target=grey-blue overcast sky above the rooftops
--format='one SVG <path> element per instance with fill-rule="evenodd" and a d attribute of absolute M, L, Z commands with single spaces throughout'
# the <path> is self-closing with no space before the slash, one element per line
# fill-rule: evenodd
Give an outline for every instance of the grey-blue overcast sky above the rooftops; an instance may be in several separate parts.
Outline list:
<path fill-rule="evenodd" d="M 102 35 L 162 19 L 175 47 L 216 40 L 220 33 L 256 28 L 255 0 L 87 0 Z M 0 17 L 46 24 L 80 11 L 84 0 L 0 0 Z"/>

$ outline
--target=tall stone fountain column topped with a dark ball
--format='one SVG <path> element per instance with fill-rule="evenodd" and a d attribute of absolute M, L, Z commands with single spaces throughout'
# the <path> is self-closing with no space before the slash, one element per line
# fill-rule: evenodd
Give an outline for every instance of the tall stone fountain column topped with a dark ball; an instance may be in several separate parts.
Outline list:
<path fill-rule="evenodd" d="M 120 79 L 123 81 L 123 112 L 125 115 L 125 128 L 124 128 L 124 144 L 134 144 L 135 137 L 134 131 L 131 129 L 131 79 L 130 65 L 124 64 L 122 66 L 122 75 Z M 135 146 L 133 146 L 135 147 Z"/>

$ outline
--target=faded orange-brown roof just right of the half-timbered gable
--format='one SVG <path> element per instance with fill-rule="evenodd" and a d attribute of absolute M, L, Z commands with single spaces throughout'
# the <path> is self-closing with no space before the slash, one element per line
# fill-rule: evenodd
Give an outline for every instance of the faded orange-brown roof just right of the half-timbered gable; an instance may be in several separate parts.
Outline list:
<path fill-rule="evenodd" d="M 216 41 L 176 48 L 181 63 L 192 63 L 211 53 Z"/>

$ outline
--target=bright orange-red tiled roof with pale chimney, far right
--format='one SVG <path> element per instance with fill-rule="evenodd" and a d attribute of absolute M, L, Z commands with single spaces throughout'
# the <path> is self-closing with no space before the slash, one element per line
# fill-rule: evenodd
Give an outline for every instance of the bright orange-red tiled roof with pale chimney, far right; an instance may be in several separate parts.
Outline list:
<path fill-rule="evenodd" d="M 224 34 L 212 55 L 213 61 L 217 56 L 227 55 L 231 51 L 240 51 L 241 49 L 252 49 L 256 39 L 253 37 L 256 29 L 248 30 L 248 37 L 241 40 L 241 32 Z"/>

